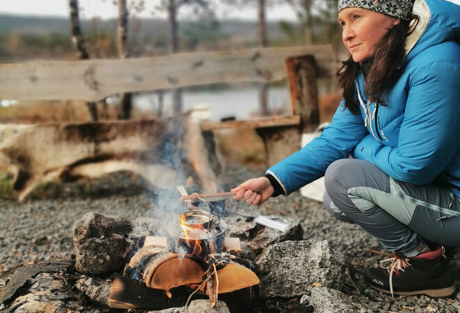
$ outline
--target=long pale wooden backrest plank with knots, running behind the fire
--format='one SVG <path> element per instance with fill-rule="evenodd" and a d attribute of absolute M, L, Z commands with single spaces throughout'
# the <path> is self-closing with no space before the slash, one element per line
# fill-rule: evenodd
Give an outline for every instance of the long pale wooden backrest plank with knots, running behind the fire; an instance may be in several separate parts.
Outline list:
<path fill-rule="evenodd" d="M 284 59 L 312 55 L 320 77 L 331 74 L 330 45 L 196 52 L 154 58 L 36 61 L 0 65 L 0 99 L 97 101 L 116 93 L 217 82 L 277 81 Z"/>

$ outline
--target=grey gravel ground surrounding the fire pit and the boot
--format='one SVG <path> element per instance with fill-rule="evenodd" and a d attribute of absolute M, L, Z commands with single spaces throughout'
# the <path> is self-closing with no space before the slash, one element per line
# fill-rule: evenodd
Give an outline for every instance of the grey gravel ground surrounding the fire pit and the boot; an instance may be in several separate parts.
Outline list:
<path fill-rule="evenodd" d="M 221 175 L 221 185 L 229 190 L 247 178 L 262 174 L 262 169 L 227 168 Z M 153 216 L 155 197 L 153 193 L 139 193 L 142 186 L 144 182 L 140 179 L 118 174 L 98 179 L 91 185 L 66 184 L 60 187 L 59 193 L 45 200 L 22 203 L 0 200 L 0 275 L 20 264 L 71 255 L 73 224 L 88 212 L 128 220 Z M 83 196 L 88 194 L 91 197 Z M 95 197 L 101 194 L 104 196 Z M 261 207 L 233 200 L 227 200 L 226 207 L 249 214 L 279 214 L 302 220 L 305 239 L 327 239 L 333 248 L 344 253 L 354 275 L 345 293 L 365 305 L 369 312 L 460 312 L 460 292 L 449 298 L 403 296 L 393 300 L 391 296 L 367 288 L 362 283 L 363 268 L 386 257 L 375 252 L 382 251 L 378 241 L 358 225 L 331 218 L 322 203 L 302 198 L 298 192 L 289 197 L 272 198 Z M 460 253 L 451 265 L 459 285 Z"/>

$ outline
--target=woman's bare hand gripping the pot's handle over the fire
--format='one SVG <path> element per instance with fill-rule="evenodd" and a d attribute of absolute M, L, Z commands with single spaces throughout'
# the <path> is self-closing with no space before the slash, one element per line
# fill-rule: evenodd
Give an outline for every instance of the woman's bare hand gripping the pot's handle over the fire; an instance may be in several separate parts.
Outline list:
<path fill-rule="evenodd" d="M 252 178 L 231 189 L 233 199 L 244 200 L 249 204 L 261 205 L 266 202 L 275 189 L 267 177 Z"/>

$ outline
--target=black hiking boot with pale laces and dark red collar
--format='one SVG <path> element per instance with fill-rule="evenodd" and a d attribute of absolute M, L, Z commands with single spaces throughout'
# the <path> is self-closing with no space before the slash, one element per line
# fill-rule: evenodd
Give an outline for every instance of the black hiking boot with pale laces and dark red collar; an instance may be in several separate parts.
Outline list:
<path fill-rule="evenodd" d="M 380 266 L 367 268 L 365 281 L 385 294 L 445 297 L 455 291 L 454 278 L 443 247 L 416 257 L 394 254 L 394 257 L 382 260 Z"/>

